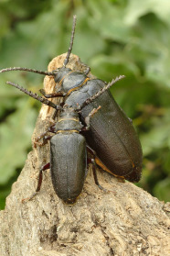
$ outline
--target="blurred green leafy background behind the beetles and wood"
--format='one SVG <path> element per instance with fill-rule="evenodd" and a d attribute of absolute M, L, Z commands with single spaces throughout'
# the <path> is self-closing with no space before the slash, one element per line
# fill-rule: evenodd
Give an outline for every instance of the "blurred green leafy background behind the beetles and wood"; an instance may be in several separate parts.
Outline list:
<path fill-rule="evenodd" d="M 125 74 L 112 88 L 139 133 L 143 178 L 139 185 L 160 200 L 170 195 L 170 1 L 0 0 L 0 69 L 47 70 L 69 48 L 104 81 Z M 0 207 L 31 150 L 40 104 L 5 84 L 11 80 L 37 93 L 43 76 L 0 74 Z"/>

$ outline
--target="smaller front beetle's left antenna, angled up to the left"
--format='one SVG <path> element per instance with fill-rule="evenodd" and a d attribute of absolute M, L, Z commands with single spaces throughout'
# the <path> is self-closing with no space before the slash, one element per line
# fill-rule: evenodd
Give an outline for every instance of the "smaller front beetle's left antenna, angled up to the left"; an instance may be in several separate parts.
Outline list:
<path fill-rule="evenodd" d="M 19 89 L 19 90 L 20 90 L 21 92 L 23 92 L 24 94 L 31 96 L 32 98 L 34 98 L 34 99 L 40 101 L 41 103 L 43 103 L 43 104 L 45 104 L 45 105 L 47 105 L 47 106 L 51 106 L 51 107 L 53 107 L 53 108 L 55 108 L 55 109 L 62 109 L 61 106 L 58 106 L 58 105 L 54 104 L 52 101 L 49 101 L 49 100 L 46 99 L 46 98 L 43 98 L 43 97 L 41 97 L 41 96 L 39 96 L 39 95 L 37 95 L 37 94 L 34 94 L 34 93 L 31 92 L 31 91 L 27 91 L 27 89 L 21 87 L 21 86 L 20 86 L 19 84 L 17 84 L 17 83 L 12 83 L 12 82 L 10 82 L 10 81 L 7 81 L 6 83 L 7 83 L 7 84 L 10 84 L 10 85 L 12 85 L 12 86 L 14 86 L 14 87 L 16 87 L 17 89 Z"/>

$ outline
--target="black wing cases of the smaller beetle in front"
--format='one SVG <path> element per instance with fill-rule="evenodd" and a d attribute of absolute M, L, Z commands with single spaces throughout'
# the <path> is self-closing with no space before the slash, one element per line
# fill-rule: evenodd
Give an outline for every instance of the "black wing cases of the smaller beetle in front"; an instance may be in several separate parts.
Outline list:
<path fill-rule="evenodd" d="M 78 133 L 58 133 L 50 140 L 50 173 L 59 198 L 72 204 L 80 195 L 87 170 L 86 142 Z"/>

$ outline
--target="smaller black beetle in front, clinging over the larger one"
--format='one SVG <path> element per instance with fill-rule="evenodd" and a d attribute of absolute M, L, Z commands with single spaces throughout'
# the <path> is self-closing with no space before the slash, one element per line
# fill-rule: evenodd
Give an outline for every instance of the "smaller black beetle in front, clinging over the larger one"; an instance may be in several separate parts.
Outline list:
<path fill-rule="evenodd" d="M 36 193 L 26 199 L 30 200 L 37 194 L 42 184 L 42 173 L 50 168 L 53 188 L 58 197 L 66 204 L 71 205 L 75 203 L 77 197 L 82 191 L 87 175 L 86 147 L 90 150 L 86 145 L 86 139 L 80 134 L 80 131 L 82 129 L 88 130 L 90 128 L 90 117 L 93 117 L 94 114 L 96 115 L 98 110 L 101 109 L 101 106 L 90 111 L 90 114 L 85 117 L 85 125 L 80 123 L 80 111 L 83 106 L 88 106 L 90 102 L 101 96 L 104 91 L 108 90 L 108 88 L 112 86 L 113 83 L 116 83 L 123 77 L 124 76 L 120 76 L 115 80 L 112 80 L 112 83 L 108 83 L 102 90 L 84 101 L 81 106 L 77 105 L 76 107 L 68 106 L 66 104 L 64 106 L 55 105 L 46 98 L 38 96 L 31 91 L 28 92 L 27 89 L 24 89 L 16 83 L 6 82 L 23 93 L 37 99 L 41 103 L 51 106 L 55 108 L 55 110 L 61 111 L 57 122 L 54 122 L 53 125 L 48 128 L 48 131 L 41 134 L 35 140 L 35 144 L 44 146 L 48 142 L 48 139 L 50 139 L 50 162 L 45 164 L 39 171 Z M 47 132 L 52 132 L 55 135 L 47 136 Z M 40 139 L 43 139 L 43 142 L 39 143 L 38 141 Z M 95 183 L 103 189 L 97 180 L 95 160 L 89 159 L 89 162 L 93 163 Z M 23 201 L 26 199 L 23 199 Z"/>

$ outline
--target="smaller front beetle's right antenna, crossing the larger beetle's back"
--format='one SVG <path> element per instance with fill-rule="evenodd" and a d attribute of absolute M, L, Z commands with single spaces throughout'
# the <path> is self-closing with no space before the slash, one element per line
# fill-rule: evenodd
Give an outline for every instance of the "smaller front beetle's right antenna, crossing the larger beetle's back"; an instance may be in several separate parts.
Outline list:
<path fill-rule="evenodd" d="M 97 92 L 95 95 L 88 98 L 80 107 L 78 107 L 78 110 L 81 110 L 84 106 L 87 106 L 88 104 L 90 104 L 90 102 L 92 102 L 97 97 L 102 95 L 105 91 L 107 91 L 112 86 L 112 84 L 122 80 L 124 77 L 125 77 L 125 75 L 120 75 L 120 76 L 116 77 L 115 79 L 112 79 L 112 81 L 110 83 L 108 83 L 106 86 L 101 88 L 101 90 L 99 92 Z"/>

